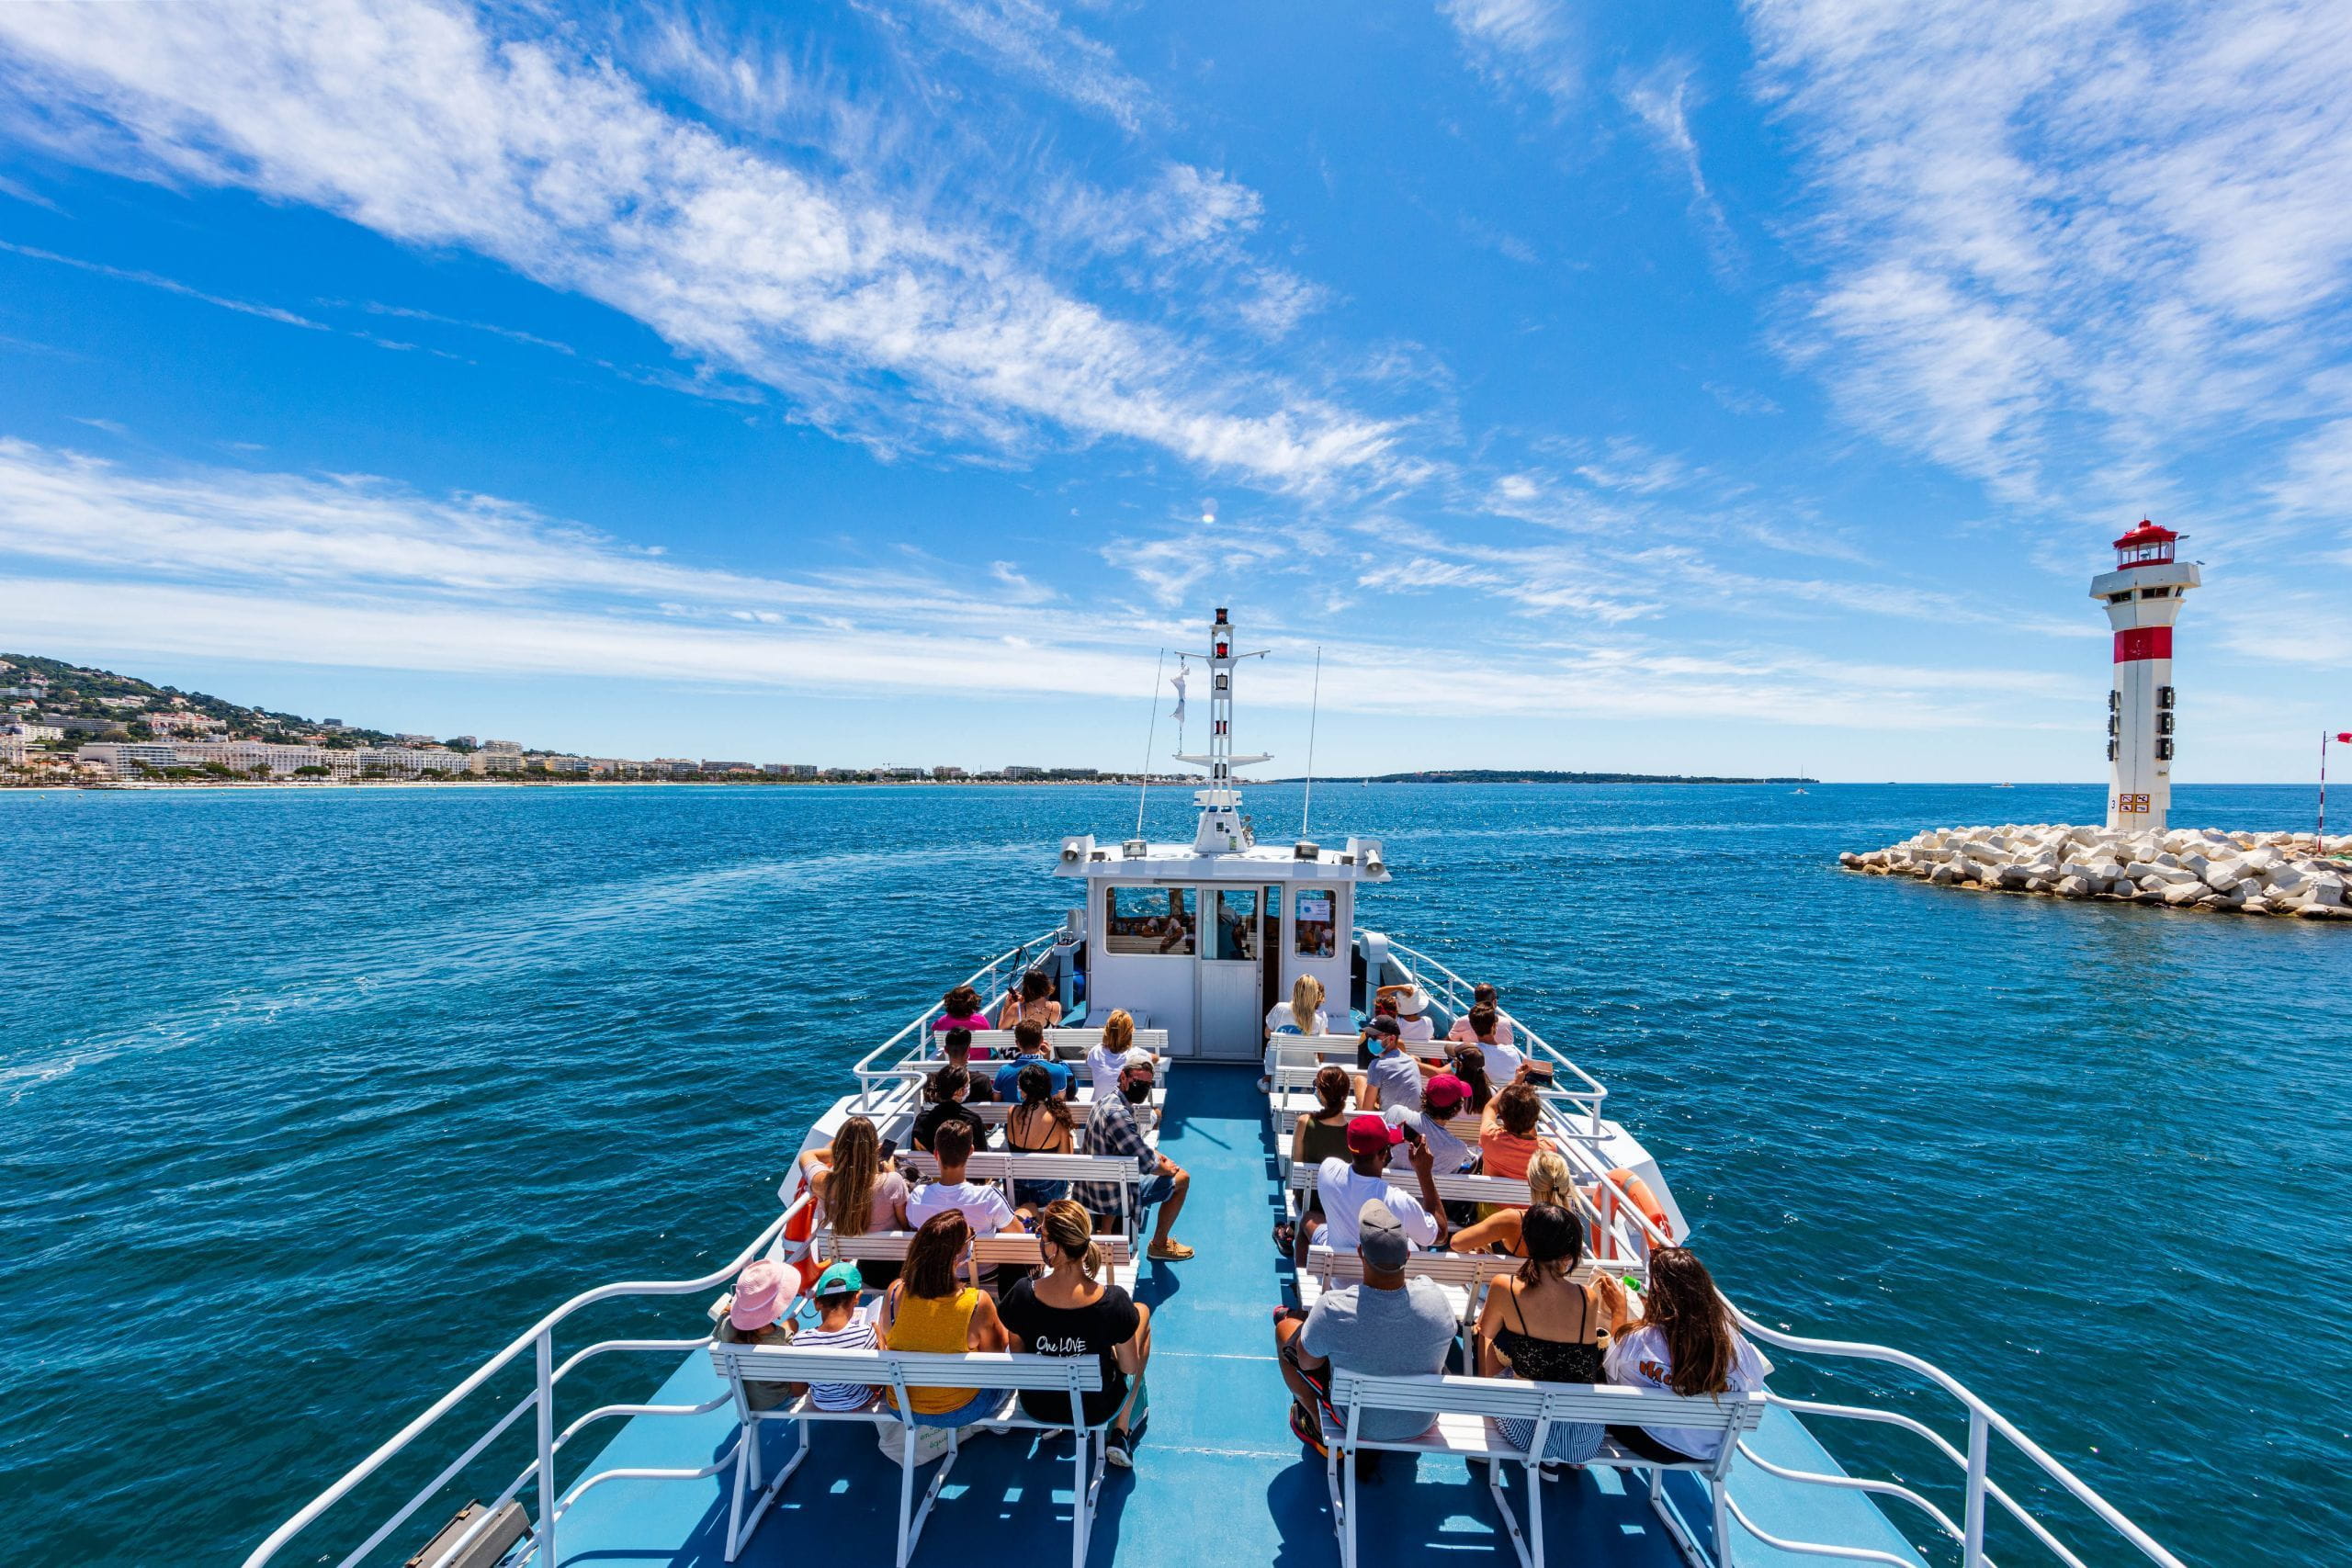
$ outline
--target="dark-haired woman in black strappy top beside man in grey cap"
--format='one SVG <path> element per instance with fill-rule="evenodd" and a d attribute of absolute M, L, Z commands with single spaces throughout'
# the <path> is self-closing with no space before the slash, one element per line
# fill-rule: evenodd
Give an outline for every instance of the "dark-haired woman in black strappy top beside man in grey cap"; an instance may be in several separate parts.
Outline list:
<path fill-rule="evenodd" d="M 1536 1204 L 1526 1211 L 1522 1237 L 1526 1262 L 1486 1288 L 1486 1307 L 1477 1316 L 1477 1375 L 1606 1382 L 1602 1347 L 1609 1309 L 1597 1288 L 1569 1279 L 1585 1258 L 1583 1220 L 1555 1204 Z M 1498 1420 L 1496 1427 L 1522 1453 L 1536 1441 L 1531 1420 Z M 1599 1453 L 1602 1432 L 1597 1422 L 1555 1422 L 1538 1458 L 1583 1465 Z"/>

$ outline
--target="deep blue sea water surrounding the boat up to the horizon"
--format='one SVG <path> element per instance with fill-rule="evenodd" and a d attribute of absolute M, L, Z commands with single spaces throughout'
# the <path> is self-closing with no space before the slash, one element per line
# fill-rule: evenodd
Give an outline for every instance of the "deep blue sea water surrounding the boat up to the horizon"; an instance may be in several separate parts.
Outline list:
<path fill-rule="evenodd" d="M 1613 1088 L 1745 1307 L 1943 1363 L 2192 1563 L 2338 1563 L 2352 929 L 1835 870 L 2098 806 L 1327 785 L 1317 827 L 1385 837 L 1367 924 Z M 1058 917 L 1058 835 L 1131 825 L 1091 788 L 0 795 L 12 1561 L 235 1561 L 564 1295 L 715 1267 L 842 1070 Z"/>

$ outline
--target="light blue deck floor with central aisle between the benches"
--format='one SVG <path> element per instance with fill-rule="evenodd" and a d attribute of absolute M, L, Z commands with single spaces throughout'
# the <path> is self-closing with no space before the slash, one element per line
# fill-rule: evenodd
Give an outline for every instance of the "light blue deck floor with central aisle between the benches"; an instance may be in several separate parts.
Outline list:
<path fill-rule="evenodd" d="M 1289 1394 L 1275 1373 L 1270 1309 L 1284 1300 L 1287 1265 L 1268 1229 L 1275 1218 L 1275 1168 L 1265 1100 L 1244 1067 L 1185 1067 L 1171 1074 L 1162 1147 L 1192 1173 L 1192 1197 L 1176 1225 L 1200 1248 L 1192 1262 L 1143 1265 L 1138 1295 L 1152 1305 L 1150 1429 L 1136 1469 L 1112 1469 L 1089 1552 L 1096 1568 L 1225 1568 L 1282 1563 L 1336 1568 L 1338 1552 L 1324 1497 L 1322 1460 L 1284 1425 Z M 699 1403 L 717 1392 L 703 1356 L 684 1361 L 659 1403 Z M 731 1441 L 729 1410 L 703 1418 L 635 1418 L 593 1469 L 696 1467 Z M 790 1453 L 790 1429 L 769 1425 L 769 1455 Z M 1811 1434 L 1785 1413 L 1757 1434 L 1773 1462 L 1835 1472 Z M 1063 1455 L 1047 1462 L 1047 1453 Z M 1442 1552 L 1465 1568 L 1515 1568 L 1484 1479 L 1451 1460 L 1402 1462 L 1388 1455 L 1362 1486 L 1359 1542 L 1364 1568 L 1418 1561 Z M 1705 1537 L 1703 1490 L 1675 1476 Z M 929 1469 L 917 1486 L 929 1483 Z M 1510 1476 L 1515 1505 L 1522 1479 Z M 1915 1561 L 1903 1537 L 1863 1497 L 1820 1486 L 1792 1486 L 1750 1467 L 1733 1495 L 1762 1528 L 1797 1540 L 1875 1547 Z M 816 1427 L 814 1450 L 750 1540 L 743 1563 L 887 1563 L 896 1542 L 898 1469 L 866 1427 Z M 1583 1472 L 1545 1486 L 1545 1556 L 1566 1568 L 1668 1568 L 1682 1563 L 1639 1481 L 1628 1490 L 1616 1472 Z M 562 1563 L 724 1561 L 727 1486 L 710 1481 L 609 1481 L 564 1514 Z M 941 1568 L 1023 1568 L 1070 1561 L 1068 1446 L 1040 1453 L 1033 1436 L 983 1436 L 964 1448 L 938 1500 L 915 1561 Z M 1771 1552 L 1745 1535 L 1733 1542 L 1740 1568 L 1820 1563 Z"/>

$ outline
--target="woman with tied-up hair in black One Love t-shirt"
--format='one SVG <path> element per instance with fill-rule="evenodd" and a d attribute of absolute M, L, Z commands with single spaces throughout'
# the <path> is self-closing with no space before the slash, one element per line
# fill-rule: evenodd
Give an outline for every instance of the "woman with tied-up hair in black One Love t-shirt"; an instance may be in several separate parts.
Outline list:
<path fill-rule="evenodd" d="M 1094 1244 L 1094 1220 L 1070 1199 L 1047 1204 L 1037 1215 L 1037 1255 L 1044 1274 L 1014 1284 L 997 1314 L 1014 1349 L 1037 1356 L 1096 1356 L 1103 1392 L 1080 1396 L 1089 1427 L 1110 1422 L 1108 1458 L 1134 1467 L 1134 1443 L 1143 1432 L 1143 1363 L 1152 1354 L 1152 1314 L 1120 1286 L 1103 1284 L 1103 1248 Z M 1021 1389 L 1030 1420 L 1068 1425 L 1070 1396 Z"/>

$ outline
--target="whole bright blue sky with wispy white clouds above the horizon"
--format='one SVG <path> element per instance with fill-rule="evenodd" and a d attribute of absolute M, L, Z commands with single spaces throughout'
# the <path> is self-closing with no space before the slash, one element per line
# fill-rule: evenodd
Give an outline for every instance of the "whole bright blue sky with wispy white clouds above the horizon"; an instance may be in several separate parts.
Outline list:
<path fill-rule="evenodd" d="M 2352 9 L 0 7 L 0 644 L 619 755 L 2352 724 Z M 1162 703 L 1164 712 L 1164 703 Z M 1162 724 L 1162 748 L 1167 745 Z"/>

